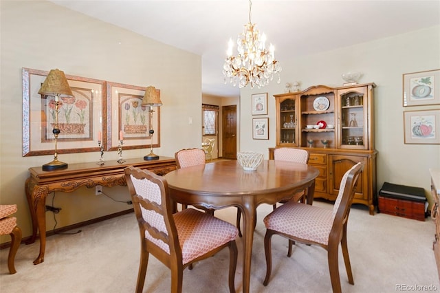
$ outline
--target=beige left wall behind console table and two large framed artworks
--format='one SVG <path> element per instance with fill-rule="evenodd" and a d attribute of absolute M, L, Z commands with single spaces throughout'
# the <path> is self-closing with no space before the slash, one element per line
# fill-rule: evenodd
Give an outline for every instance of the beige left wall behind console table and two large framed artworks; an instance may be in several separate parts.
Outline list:
<path fill-rule="evenodd" d="M 24 182 L 28 168 L 50 162 L 53 155 L 23 158 L 21 68 L 97 78 L 161 90 L 161 147 L 158 155 L 172 157 L 177 149 L 198 147 L 201 137 L 201 56 L 147 39 L 47 1 L 1 1 L 1 96 L 0 96 L 0 203 L 18 204 L 16 214 L 23 237 L 30 235 L 31 221 Z M 153 28 L 152 28 L 153 29 Z M 192 124 L 188 124 L 192 117 Z M 157 127 L 156 127 L 157 128 Z M 148 146 L 146 146 L 147 148 Z M 124 151 L 126 158 L 142 158 L 147 149 Z M 105 160 L 117 160 L 115 151 Z M 59 155 L 69 164 L 93 162 L 99 153 Z M 128 200 L 124 187 L 104 188 L 115 199 Z M 52 204 L 52 195 L 47 198 Z M 131 208 L 113 202 L 94 190 L 56 193 L 56 228 Z M 47 230 L 54 216 L 46 214 Z M 1 242 L 10 241 L 2 237 Z"/>

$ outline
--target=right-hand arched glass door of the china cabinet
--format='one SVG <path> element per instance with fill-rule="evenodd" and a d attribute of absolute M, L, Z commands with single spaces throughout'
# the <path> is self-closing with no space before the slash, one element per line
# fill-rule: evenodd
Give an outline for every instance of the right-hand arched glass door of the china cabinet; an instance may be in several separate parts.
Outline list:
<path fill-rule="evenodd" d="M 341 149 L 368 149 L 368 102 L 366 87 L 339 89 L 340 123 L 338 144 Z"/>

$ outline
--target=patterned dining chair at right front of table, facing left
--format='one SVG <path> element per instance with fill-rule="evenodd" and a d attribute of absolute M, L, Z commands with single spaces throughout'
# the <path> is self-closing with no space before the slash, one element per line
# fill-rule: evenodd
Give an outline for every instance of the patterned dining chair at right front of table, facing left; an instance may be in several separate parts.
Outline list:
<path fill-rule="evenodd" d="M 272 270 L 272 235 L 281 235 L 287 239 L 309 245 L 316 244 L 325 248 L 329 263 L 331 287 L 333 292 L 336 293 L 341 292 L 338 268 L 340 243 L 349 283 L 354 285 L 347 247 L 347 222 L 355 194 L 355 184 L 358 182 L 358 177 L 363 169 L 364 164 L 358 163 L 344 173 L 338 197 L 332 210 L 289 201 L 265 217 L 264 248 L 267 270 L 263 285 L 269 283 Z"/>

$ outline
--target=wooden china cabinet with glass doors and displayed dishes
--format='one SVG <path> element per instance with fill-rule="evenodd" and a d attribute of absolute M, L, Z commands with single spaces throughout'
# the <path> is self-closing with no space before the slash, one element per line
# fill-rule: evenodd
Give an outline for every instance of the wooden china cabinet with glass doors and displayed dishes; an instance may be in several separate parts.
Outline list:
<path fill-rule="evenodd" d="M 374 83 L 345 87 L 316 85 L 304 91 L 274 95 L 276 146 L 309 151 L 309 164 L 319 169 L 315 195 L 335 200 L 344 173 L 358 162 L 364 171 L 353 203 L 374 214 L 376 155 L 374 149 Z M 269 149 L 269 158 L 273 151 Z"/>

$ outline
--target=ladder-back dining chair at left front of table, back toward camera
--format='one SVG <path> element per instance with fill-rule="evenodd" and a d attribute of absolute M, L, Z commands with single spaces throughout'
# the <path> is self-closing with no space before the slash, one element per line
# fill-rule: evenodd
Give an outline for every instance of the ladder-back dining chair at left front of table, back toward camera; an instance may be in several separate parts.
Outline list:
<path fill-rule="evenodd" d="M 171 292 L 181 292 L 183 271 L 190 264 L 229 248 L 229 290 L 235 292 L 238 230 L 230 223 L 194 208 L 173 214 L 164 177 L 133 166 L 124 169 L 140 229 L 141 254 L 136 292 L 142 292 L 153 254 L 171 270 Z"/>

